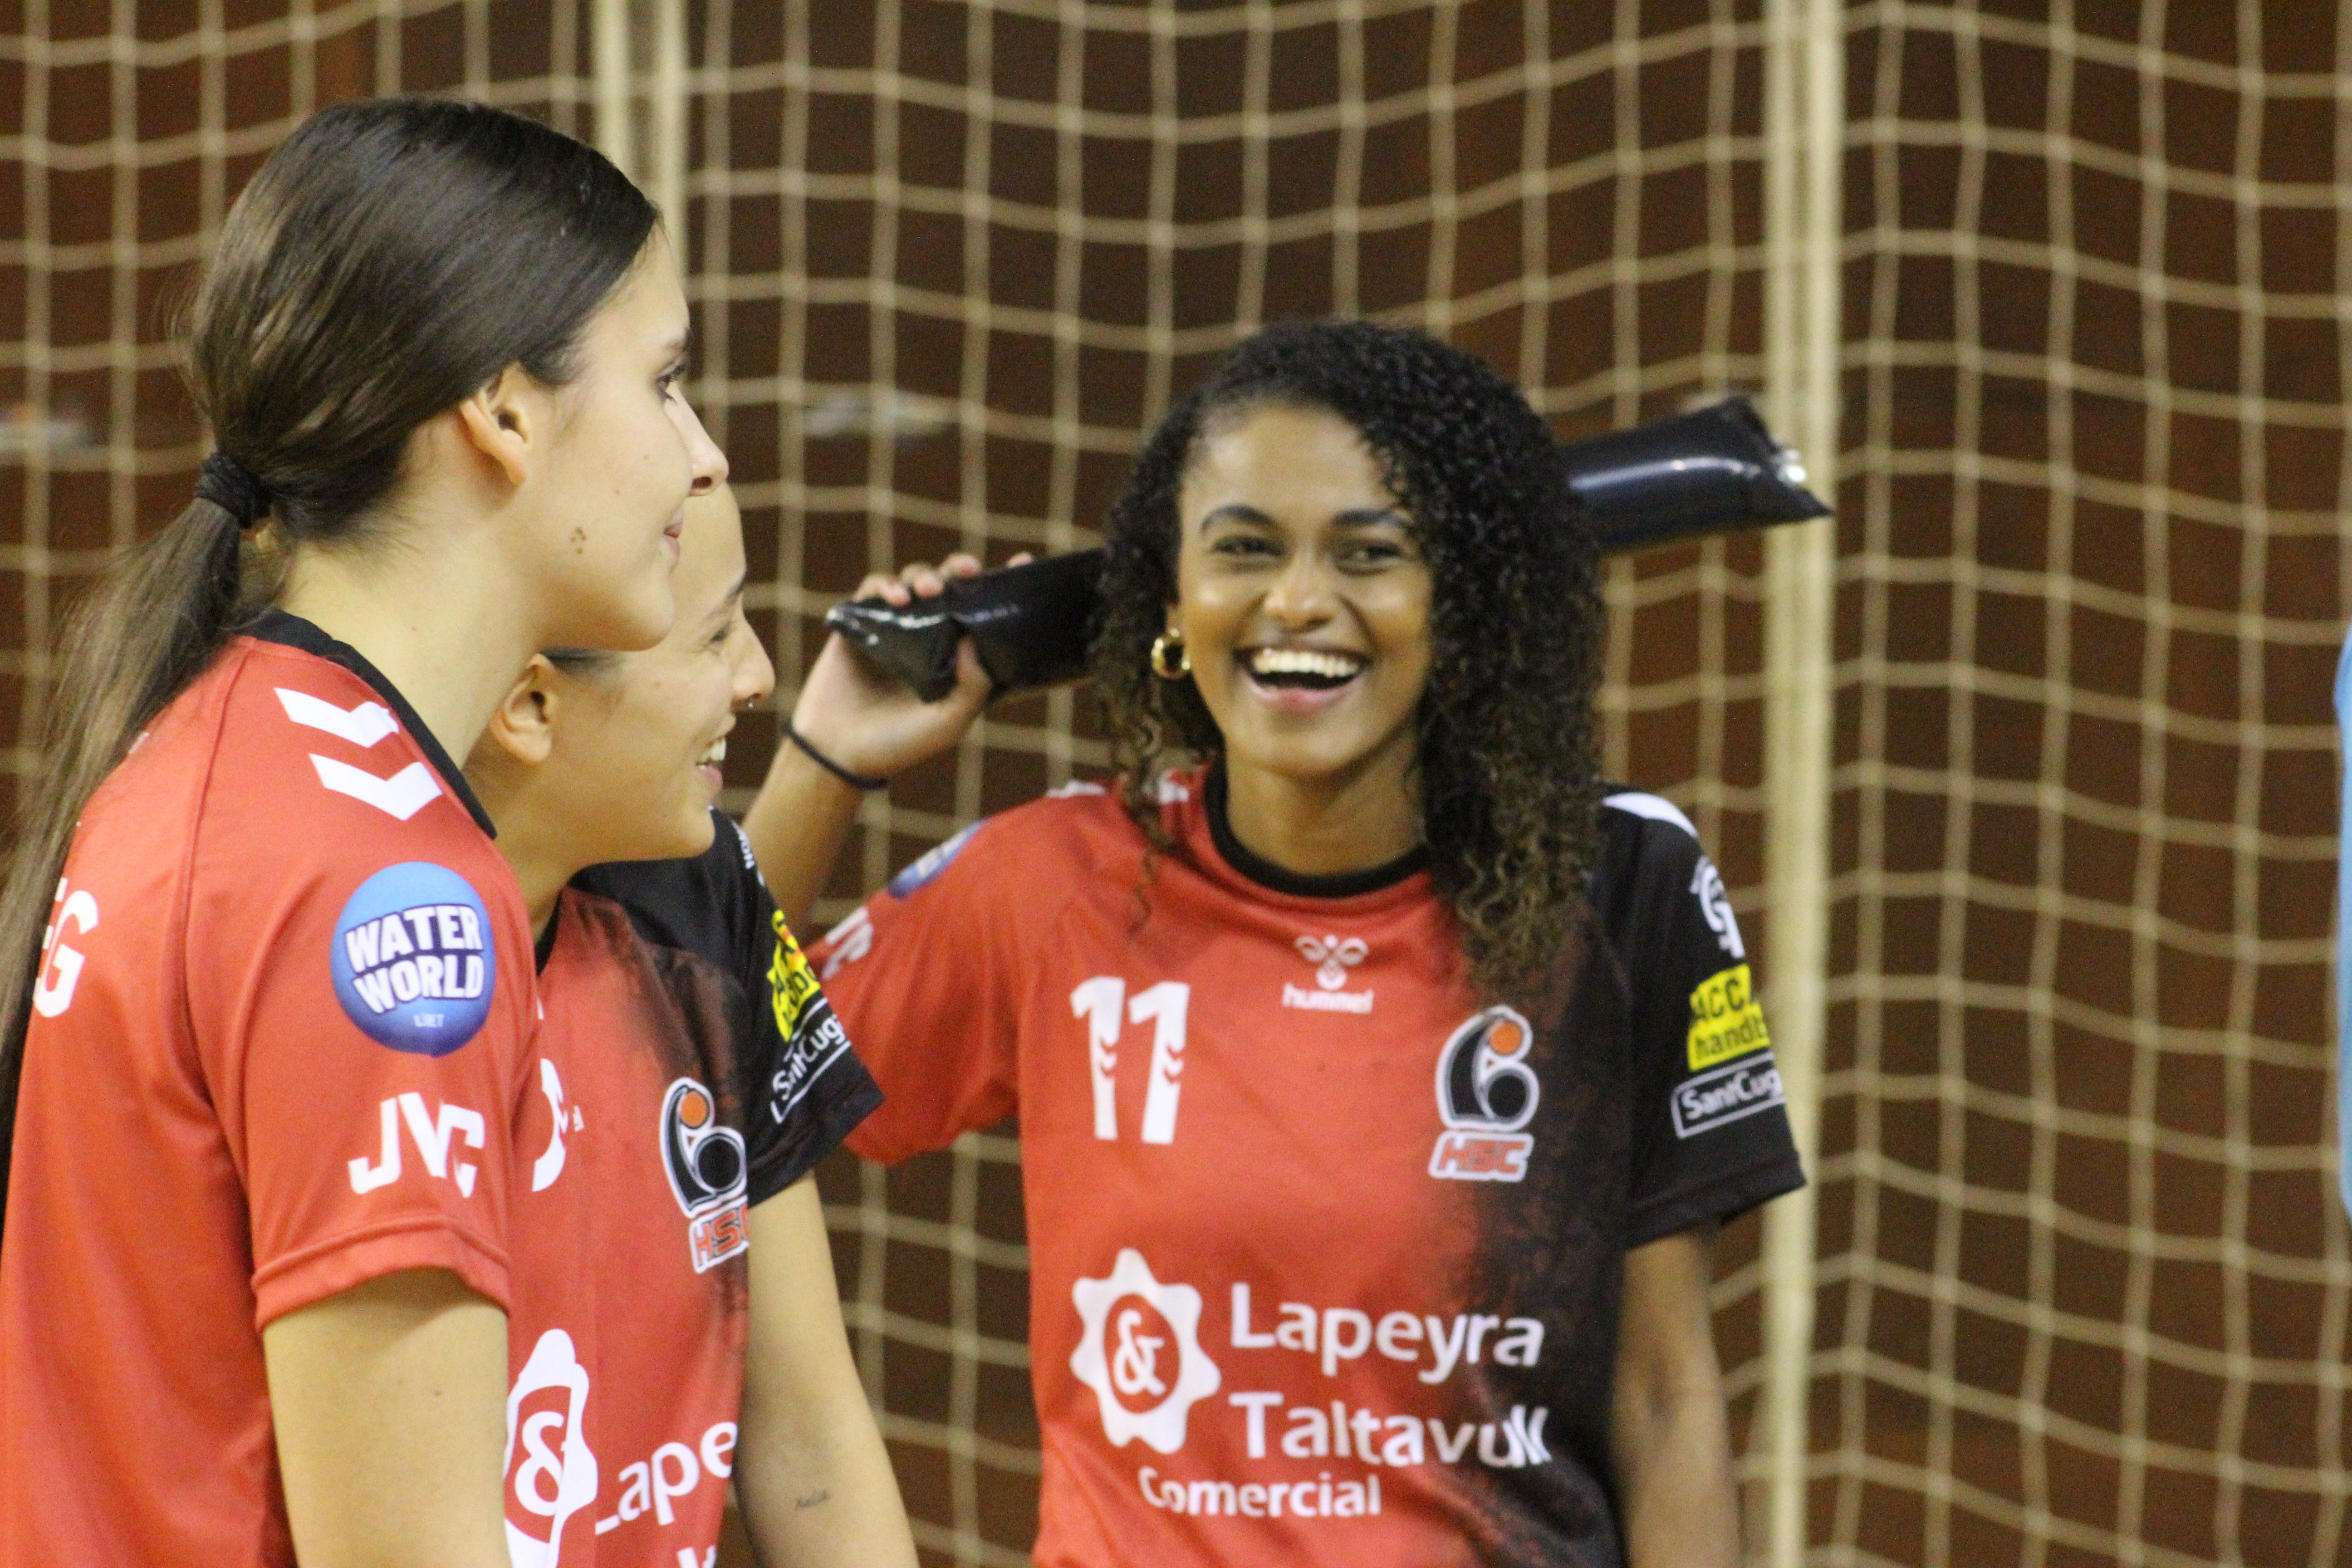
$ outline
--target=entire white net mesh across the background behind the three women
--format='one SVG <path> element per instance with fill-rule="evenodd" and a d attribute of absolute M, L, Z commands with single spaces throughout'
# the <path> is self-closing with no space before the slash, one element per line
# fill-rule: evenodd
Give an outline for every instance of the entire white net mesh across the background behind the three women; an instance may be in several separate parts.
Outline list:
<path fill-rule="evenodd" d="M 588 9 L 0 7 L 9 788 L 56 604 L 186 494 L 165 301 L 245 174 L 383 89 L 590 134 Z M 1138 433 L 1263 320 L 1421 322 L 1562 435 L 1759 376 L 1762 0 L 684 24 L 696 395 L 786 689 L 873 567 L 1091 543 Z M 1877 0 L 1849 40 L 1813 1556 L 2336 1563 L 2352 31 Z M 1609 581 L 1611 766 L 1693 811 L 1750 929 L 1759 567 L 1733 541 Z M 736 802 L 774 743 L 746 731 Z M 828 912 L 1098 759 L 1084 698 L 1007 703 L 868 806 Z M 927 1556 L 1023 1561 L 1011 1128 L 823 1180 Z M 1740 1434 L 1752 1258 L 1748 1222 Z"/>

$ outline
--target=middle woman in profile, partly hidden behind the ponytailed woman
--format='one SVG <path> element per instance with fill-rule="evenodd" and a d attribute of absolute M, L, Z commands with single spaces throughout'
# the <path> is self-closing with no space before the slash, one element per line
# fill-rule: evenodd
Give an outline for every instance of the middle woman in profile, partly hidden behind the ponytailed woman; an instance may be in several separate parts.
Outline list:
<path fill-rule="evenodd" d="M 774 686 L 724 487 L 687 503 L 673 590 L 652 649 L 534 658 L 466 764 L 541 964 L 508 1537 L 708 1561 L 731 1481 L 762 1561 L 913 1563 L 809 1180 L 877 1095 L 715 811 Z"/>

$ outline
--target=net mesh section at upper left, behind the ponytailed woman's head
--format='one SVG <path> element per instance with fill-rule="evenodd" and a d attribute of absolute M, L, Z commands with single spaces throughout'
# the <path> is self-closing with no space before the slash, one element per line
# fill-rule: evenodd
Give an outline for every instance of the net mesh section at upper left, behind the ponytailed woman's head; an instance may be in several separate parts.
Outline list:
<path fill-rule="evenodd" d="M 28 766 L 59 604 L 205 456 L 174 306 L 320 103 L 461 92 L 588 134 L 574 5 L 33 0 L 0 9 L 0 715 Z"/>

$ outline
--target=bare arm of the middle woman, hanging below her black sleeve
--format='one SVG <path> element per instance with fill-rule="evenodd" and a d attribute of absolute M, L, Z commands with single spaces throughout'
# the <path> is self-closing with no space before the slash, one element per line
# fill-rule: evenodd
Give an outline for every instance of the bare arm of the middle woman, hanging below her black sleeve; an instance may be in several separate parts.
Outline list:
<path fill-rule="evenodd" d="M 816 1182 L 753 1211 L 736 1497 L 767 1568 L 915 1568 L 915 1537 L 842 1328 Z"/>

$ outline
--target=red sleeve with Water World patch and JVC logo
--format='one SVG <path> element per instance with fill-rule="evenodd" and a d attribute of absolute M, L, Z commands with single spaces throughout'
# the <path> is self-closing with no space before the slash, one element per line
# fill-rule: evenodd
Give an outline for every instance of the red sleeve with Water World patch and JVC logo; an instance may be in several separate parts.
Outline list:
<path fill-rule="evenodd" d="M 278 875 L 238 856 L 200 882 L 219 891 L 183 973 L 247 1192 L 256 1326 L 416 1267 L 508 1302 L 522 900 L 470 823 L 393 837 L 287 835 Z"/>

